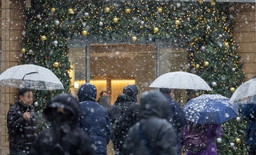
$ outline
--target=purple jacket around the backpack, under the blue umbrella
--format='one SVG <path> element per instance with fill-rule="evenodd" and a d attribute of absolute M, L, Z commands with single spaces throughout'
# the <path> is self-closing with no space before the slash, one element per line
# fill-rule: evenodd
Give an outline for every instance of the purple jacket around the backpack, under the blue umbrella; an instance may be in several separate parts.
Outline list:
<path fill-rule="evenodd" d="M 206 131 L 207 137 L 210 139 L 209 146 L 206 150 L 198 152 L 196 154 L 187 151 L 186 155 L 217 155 L 217 146 L 214 143 L 214 138 L 219 138 L 222 136 L 222 127 L 221 124 L 204 124 L 204 129 Z M 185 138 L 185 129 L 184 128 L 184 138 Z"/>

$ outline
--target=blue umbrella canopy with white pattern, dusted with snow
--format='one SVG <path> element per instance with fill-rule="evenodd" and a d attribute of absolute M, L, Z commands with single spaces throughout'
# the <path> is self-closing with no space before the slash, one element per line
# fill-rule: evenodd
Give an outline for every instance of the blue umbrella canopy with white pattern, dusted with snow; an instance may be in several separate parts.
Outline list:
<path fill-rule="evenodd" d="M 220 94 L 203 94 L 189 100 L 183 111 L 189 121 L 198 124 L 223 123 L 238 115 L 238 106 Z"/>

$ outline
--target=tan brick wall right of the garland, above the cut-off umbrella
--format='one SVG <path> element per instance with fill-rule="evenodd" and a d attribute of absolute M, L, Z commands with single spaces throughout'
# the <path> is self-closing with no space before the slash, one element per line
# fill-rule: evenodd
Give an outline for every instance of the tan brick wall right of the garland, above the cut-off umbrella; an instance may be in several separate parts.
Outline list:
<path fill-rule="evenodd" d="M 249 80 L 256 73 L 256 16 L 255 3 L 234 3 L 232 11 L 237 51 L 241 56 L 241 63 L 244 63 L 243 70 L 246 73 L 246 79 Z"/>

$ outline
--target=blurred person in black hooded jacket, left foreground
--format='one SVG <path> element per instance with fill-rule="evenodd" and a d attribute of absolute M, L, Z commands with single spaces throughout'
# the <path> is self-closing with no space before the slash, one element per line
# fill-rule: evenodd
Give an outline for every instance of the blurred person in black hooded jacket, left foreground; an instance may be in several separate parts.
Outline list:
<path fill-rule="evenodd" d="M 43 111 L 51 128 L 38 135 L 30 155 L 93 155 L 90 137 L 77 125 L 81 114 L 79 102 L 70 94 L 52 98 Z"/>

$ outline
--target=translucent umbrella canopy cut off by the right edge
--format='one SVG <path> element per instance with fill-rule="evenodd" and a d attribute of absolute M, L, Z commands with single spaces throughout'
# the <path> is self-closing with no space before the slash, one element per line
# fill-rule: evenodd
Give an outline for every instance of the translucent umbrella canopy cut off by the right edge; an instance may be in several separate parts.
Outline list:
<path fill-rule="evenodd" d="M 241 84 L 231 96 L 231 104 L 251 104 L 256 103 L 256 78 Z"/>

